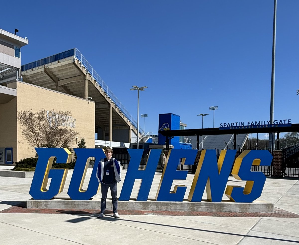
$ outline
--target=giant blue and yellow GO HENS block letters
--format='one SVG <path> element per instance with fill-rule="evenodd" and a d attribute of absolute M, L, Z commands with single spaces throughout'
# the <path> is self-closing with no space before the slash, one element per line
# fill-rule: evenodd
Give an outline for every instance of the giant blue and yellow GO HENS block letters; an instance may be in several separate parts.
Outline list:
<path fill-rule="evenodd" d="M 53 160 L 56 157 L 57 163 L 69 163 L 71 152 L 65 148 L 35 148 L 39 155 L 29 194 L 33 199 L 50 200 L 62 192 L 68 169 L 51 169 Z M 77 161 L 74 172 L 68 186 L 68 195 L 72 200 L 89 200 L 100 189 L 100 184 L 96 177 L 98 162 L 105 157 L 103 149 L 74 149 L 77 154 Z M 152 149 L 149 152 L 147 164 L 144 170 L 138 170 L 143 149 L 128 149 L 131 160 L 128 166 L 126 177 L 123 180 L 123 187 L 119 200 L 130 200 L 135 180 L 142 180 L 137 193 L 137 201 L 147 201 L 155 170 L 158 165 L 161 150 Z M 185 185 L 175 185 L 176 180 L 185 180 L 187 171 L 178 171 L 177 166 L 181 164 L 193 165 L 197 150 L 176 150 L 169 151 L 165 163 L 164 171 L 161 175 L 157 189 L 156 201 L 177 201 L 181 202 L 187 189 Z M 236 150 L 222 150 L 217 162 L 216 150 L 203 150 L 188 200 L 200 202 L 204 190 L 206 189 L 209 201 L 221 202 L 225 193 L 233 202 L 250 203 L 261 196 L 266 176 L 262 172 L 251 172 L 252 165 L 270 166 L 272 155 L 267 150 L 247 150 L 240 154 L 234 163 Z M 91 173 L 89 184 L 86 190 L 83 189 L 89 160 L 95 157 L 95 164 Z M 233 166 L 234 163 L 234 166 Z M 233 169 L 232 169 L 233 167 Z M 237 180 L 245 180 L 245 187 L 231 186 L 227 184 L 229 174 Z M 49 189 L 47 183 L 51 178 Z"/>

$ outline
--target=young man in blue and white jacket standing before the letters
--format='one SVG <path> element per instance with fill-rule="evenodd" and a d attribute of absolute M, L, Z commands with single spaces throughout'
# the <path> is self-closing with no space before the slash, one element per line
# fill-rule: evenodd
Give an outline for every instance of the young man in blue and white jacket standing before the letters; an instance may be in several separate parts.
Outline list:
<path fill-rule="evenodd" d="M 101 183 L 101 213 L 97 218 L 102 218 L 105 216 L 106 210 L 106 198 L 108 193 L 108 188 L 110 187 L 112 196 L 112 206 L 113 206 L 113 217 L 119 218 L 117 212 L 117 183 L 120 182 L 120 163 L 118 160 L 112 157 L 112 149 L 107 147 L 105 149 L 106 158 L 101 159 L 99 166 L 97 168 L 97 179 Z"/>

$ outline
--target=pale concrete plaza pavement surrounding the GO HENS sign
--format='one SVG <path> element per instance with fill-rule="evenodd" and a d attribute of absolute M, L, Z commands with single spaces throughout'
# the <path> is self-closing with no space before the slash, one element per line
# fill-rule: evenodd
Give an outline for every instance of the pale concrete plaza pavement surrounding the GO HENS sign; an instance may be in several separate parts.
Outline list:
<path fill-rule="evenodd" d="M 9 168 L 0 166 L 0 169 Z M 122 180 L 125 174 L 123 170 Z M 174 181 L 187 186 L 185 198 L 193 176 L 188 174 L 187 180 Z M 65 189 L 58 198 L 68 197 L 70 177 L 68 174 Z M 85 186 L 89 178 L 87 174 Z M 156 173 L 149 198 L 155 197 L 160 178 L 161 173 Z M 91 212 L 5 212 L 31 198 L 31 181 L 32 178 L 0 177 L 1 244 L 299 244 L 298 179 L 267 178 L 262 196 L 256 200 L 274 203 L 276 210 L 285 210 L 289 215 L 284 218 L 254 213 L 251 217 L 214 217 L 212 213 L 210 216 L 121 215 L 120 219 L 108 214 L 98 219 Z M 229 177 L 228 184 L 244 186 L 244 183 Z M 122 182 L 118 185 L 118 196 L 121 187 Z M 138 187 L 136 181 L 131 198 L 136 198 Z M 94 198 L 100 198 L 100 192 Z M 224 195 L 223 199 L 228 198 Z"/>

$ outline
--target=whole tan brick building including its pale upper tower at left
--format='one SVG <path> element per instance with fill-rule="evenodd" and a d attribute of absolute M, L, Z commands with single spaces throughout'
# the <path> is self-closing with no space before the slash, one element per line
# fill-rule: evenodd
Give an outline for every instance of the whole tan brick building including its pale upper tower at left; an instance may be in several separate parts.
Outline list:
<path fill-rule="evenodd" d="M 71 111 L 66 126 L 79 132 L 78 140 L 85 138 L 88 148 L 94 148 L 95 103 L 22 82 L 21 48 L 27 44 L 27 38 L 0 29 L 0 164 L 35 156 L 34 148 L 22 136 L 22 127 L 17 121 L 21 110 Z"/>

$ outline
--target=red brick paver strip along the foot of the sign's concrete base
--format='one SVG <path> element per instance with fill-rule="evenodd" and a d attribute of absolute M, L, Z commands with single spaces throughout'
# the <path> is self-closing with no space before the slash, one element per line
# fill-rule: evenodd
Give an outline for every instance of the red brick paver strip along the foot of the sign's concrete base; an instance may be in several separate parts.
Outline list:
<path fill-rule="evenodd" d="M 27 209 L 26 202 L 19 203 L 0 213 L 20 214 L 86 214 L 97 215 L 99 209 Z M 299 215 L 287 212 L 283 209 L 274 209 L 274 213 L 240 213 L 240 212 L 171 212 L 171 211 L 140 211 L 140 210 L 118 210 L 120 215 L 178 215 L 178 216 L 218 216 L 218 217 L 275 217 L 275 218 L 299 218 Z M 105 214 L 113 214 L 106 210 Z"/>

